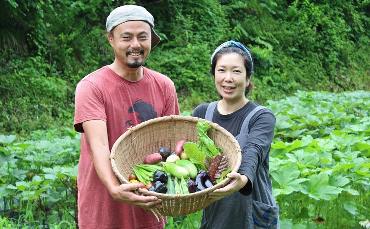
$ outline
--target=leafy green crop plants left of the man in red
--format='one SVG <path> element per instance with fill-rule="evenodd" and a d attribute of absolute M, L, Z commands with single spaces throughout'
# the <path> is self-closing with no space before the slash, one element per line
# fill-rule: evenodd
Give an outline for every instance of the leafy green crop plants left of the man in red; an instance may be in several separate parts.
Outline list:
<path fill-rule="evenodd" d="M 35 131 L 29 137 L 0 135 L 2 217 L 18 218 L 16 225 L 71 228 L 77 222 L 80 135 Z"/>

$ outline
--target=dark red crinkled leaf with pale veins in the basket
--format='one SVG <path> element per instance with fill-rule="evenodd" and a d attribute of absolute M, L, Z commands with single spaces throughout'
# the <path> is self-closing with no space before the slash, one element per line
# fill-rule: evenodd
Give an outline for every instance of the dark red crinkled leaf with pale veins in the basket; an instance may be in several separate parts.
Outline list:
<path fill-rule="evenodd" d="M 222 172 L 227 170 L 229 159 L 227 156 L 222 156 L 222 154 L 218 154 L 212 161 L 211 160 L 211 157 L 206 157 L 203 163 L 206 165 L 206 167 L 208 167 L 209 164 L 209 176 L 213 181 L 214 179 L 220 178 Z"/>

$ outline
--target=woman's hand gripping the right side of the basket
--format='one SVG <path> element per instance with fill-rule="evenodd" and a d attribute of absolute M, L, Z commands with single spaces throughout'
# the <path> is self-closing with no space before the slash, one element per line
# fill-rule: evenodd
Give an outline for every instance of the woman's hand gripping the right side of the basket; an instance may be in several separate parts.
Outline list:
<path fill-rule="evenodd" d="M 246 175 L 240 175 L 237 172 L 230 172 L 226 175 L 228 178 L 231 178 L 231 182 L 228 183 L 225 187 L 216 189 L 213 193 L 209 194 L 209 198 L 213 200 L 219 200 L 223 197 L 232 194 L 243 188 L 249 181 Z"/>

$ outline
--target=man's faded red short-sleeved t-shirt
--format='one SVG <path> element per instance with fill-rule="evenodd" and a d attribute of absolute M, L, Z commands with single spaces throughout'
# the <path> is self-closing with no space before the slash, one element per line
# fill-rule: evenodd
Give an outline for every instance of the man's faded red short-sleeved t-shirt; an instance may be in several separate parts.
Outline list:
<path fill-rule="evenodd" d="M 179 115 L 174 83 L 165 75 L 143 67 L 137 82 L 123 79 L 104 66 L 84 77 L 76 87 L 74 129 L 81 134 L 78 163 L 78 222 L 80 229 L 162 229 L 152 212 L 113 200 L 100 181 L 91 159 L 82 123 L 107 123 L 109 149 L 127 128 L 146 120 Z"/>

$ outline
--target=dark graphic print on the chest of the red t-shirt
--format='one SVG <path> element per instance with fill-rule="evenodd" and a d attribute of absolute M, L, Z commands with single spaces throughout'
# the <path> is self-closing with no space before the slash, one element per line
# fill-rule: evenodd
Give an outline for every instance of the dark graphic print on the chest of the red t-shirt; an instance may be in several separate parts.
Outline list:
<path fill-rule="evenodd" d="M 138 99 L 132 103 L 132 106 L 128 108 L 128 119 L 125 121 L 125 127 L 134 126 L 132 123 L 133 119 L 139 119 L 142 122 L 149 119 L 157 117 L 157 112 L 154 110 L 154 106 L 150 103 L 143 101 L 143 99 Z M 134 117 L 130 116 L 134 115 Z"/>

